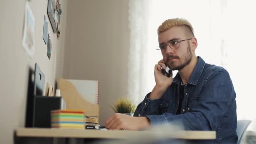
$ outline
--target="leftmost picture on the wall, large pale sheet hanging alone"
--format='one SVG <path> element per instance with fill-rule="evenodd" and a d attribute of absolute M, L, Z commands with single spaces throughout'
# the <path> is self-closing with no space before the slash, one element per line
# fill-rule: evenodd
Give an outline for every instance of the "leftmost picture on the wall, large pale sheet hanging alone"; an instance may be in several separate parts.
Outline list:
<path fill-rule="evenodd" d="M 32 58 L 35 53 L 35 18 L 28 1 L 25 8 L 22 47 L 29 57 Z"/>

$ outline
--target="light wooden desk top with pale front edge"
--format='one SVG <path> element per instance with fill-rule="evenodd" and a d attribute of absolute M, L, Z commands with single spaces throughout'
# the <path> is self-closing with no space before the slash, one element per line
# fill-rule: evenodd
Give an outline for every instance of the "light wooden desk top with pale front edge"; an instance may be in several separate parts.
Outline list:
<path fill-rule="evenodd" d="M 68 139 L 68 142 L 76 144 L 77 139 L 186 139 L 186 140 L 205 140 L 216 139 L 215 131 L 177 131 L 175 133 L 163 133 L 153 131 L 122 131 L 122 130 L 76 130 L 76 129 L 60 129 L 60 128 L 17 128 L 15 130 L 16 137 L 22 139 L 32 139 L 41 141 L 43 138 Z M 70 139 L 75 142 L 70 142 Z M 49 140 L 48 140 L 49 141 Z M 66 141 L 66 140 L 65 140 Z M 20 143 L 20 142 L 17 142 Z M 21 142 L 27 143 L 27 142 Z M 35 143 L 35 142 L 32 142 Z M 63 142 L 53 142 L 59 144 Z M 83 142 L 80 141 L 82 144 Z"/>

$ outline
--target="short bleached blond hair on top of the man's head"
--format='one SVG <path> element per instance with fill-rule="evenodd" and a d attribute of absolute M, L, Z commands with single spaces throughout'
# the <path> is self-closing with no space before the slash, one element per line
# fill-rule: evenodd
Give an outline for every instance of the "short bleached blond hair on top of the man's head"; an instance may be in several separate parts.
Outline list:
<path fill-rule="evenodd" d="M 175 19 L 167 19 L 165 20 L 157 29 L 157 34 L 159 35 L 162 32 L 165 32 L 172 27 L 178 27 L 178 26 L 185 26 L 189 28 L 190 32 L 194 36 L 194 29 L 192 25 L 190 24 L 189 21 L 186 19 L 181 19 L 181 18 L 175 18 Z"/>

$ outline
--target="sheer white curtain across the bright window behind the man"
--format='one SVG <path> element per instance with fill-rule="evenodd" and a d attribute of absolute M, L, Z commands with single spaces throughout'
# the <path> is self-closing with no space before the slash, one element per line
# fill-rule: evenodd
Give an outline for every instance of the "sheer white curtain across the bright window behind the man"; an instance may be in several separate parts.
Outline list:
<path fill-rule="evenodd" d="M 237 118 L 251 119 L 256 129 L 256 1 L 130 0 L 131 42 L 128 96 L 139 103 L 155 85 L 157 28 L 170 18 L 185 18 L 195 29 L 196 55 L 229 72 L 237 93 Z M 176 72 L 174 72 L 174 75 Z"/>

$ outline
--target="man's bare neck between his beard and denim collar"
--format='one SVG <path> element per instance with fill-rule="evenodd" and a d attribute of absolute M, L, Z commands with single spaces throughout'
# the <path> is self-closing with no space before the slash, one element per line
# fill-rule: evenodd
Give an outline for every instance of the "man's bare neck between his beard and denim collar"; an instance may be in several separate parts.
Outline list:
<path fill-rule="evenodd" d="M 192 72 L 195 69 L 196 64 L 197 64 L 197 57 L 193 56 L 190 63 L 183 69 L 179 70 L 179 75 L 181 77 L 183 84 L 188 83 L 189 77 L 190 75 L 192 75 Z"/>

